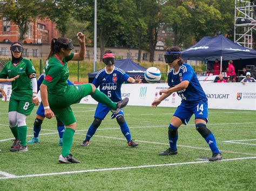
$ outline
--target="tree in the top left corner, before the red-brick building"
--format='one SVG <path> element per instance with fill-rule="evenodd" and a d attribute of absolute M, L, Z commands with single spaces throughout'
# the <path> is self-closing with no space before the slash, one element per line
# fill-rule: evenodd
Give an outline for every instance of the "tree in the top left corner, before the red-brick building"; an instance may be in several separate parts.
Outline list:
<path fill-rule="evenodd" d="M 6 0 L 2 7 L 3 17 L 18 25 L 19 41 L 22 41 L 29 30 L 29 23 L 39 15 L 40 2 L 36 0 Z"/>

